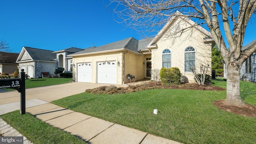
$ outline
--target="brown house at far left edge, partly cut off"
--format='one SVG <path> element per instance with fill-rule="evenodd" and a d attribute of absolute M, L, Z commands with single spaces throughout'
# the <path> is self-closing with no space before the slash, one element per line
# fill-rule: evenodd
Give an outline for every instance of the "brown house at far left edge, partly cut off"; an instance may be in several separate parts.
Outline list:
<path fill-rule="evenodd" d="M 18 69 L 18 64 L 16 60 L 19 54 L 10 53 L 10 52 L 0 52 L 1 56 L 4 56 L 0 59 L 0 73 L 13 74 Z"/>

